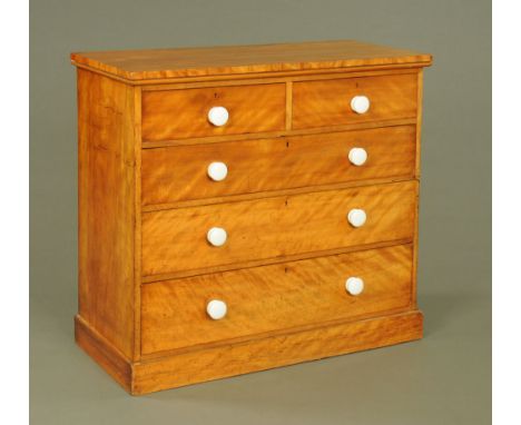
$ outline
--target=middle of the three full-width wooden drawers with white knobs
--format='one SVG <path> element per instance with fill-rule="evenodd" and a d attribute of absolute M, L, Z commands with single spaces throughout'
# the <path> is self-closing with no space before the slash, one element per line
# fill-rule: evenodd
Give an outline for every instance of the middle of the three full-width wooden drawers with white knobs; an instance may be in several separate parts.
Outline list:
<path fill-rule="evenodd" d="M 142 274 L 409 239 L 414 230 L 416 191 L 417 182 L 411 180 L 144 212 Z M 365 211 L 363 226 L 348 223 L 353 209 Z M 224 245 L 208 243 L 212 228 L 225 229 Z"/>

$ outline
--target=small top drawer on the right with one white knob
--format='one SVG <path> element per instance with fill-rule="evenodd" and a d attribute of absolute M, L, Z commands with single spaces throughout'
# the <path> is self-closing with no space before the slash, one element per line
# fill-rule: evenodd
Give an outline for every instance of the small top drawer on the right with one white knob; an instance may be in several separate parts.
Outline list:
<path fill-rule="evenodd" d="M 355 97 L 368 99 L 366 112 L 358 113 L 352 109 Z M 295 82 L 293 128 L 414 118 L 416 98 L 416 73 Z"/>

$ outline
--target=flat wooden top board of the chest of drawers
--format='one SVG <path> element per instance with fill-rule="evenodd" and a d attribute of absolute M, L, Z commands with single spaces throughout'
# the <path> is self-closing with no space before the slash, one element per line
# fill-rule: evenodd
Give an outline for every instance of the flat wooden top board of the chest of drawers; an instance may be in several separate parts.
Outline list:
<path fill-rule="evenodd" d="M 382 65 L 429 66 L 431 56 L 355 40 L 71 53 L 77 65 L 128 80 Z"/>

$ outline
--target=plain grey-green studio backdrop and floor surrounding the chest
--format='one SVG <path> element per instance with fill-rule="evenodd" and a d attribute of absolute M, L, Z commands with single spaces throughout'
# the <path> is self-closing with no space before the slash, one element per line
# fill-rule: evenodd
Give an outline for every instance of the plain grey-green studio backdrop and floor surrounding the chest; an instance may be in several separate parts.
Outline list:
<path fill-rule="evenodd" d="M 488 0 L 31 2 L 33 424 L 491 422 Z M 128 396 L 73 344 L 76 81 L 69 52 L 360 39 L 433 53 L 425 71 L 419 343 Z"/>

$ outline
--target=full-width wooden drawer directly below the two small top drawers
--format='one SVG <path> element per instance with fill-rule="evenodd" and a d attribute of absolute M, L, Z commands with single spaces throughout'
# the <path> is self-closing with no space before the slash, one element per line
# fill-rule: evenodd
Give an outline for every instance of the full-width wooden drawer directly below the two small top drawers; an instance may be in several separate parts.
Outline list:
<path fill-rule="evenodd" d="M 415 140 L 415 127 L 404 126 L 145 149 L 141 199 L 144 205 L 168 204 L 364 179 L 412 178 Z M 350 161 L 353 148 L 367 154 L 363 165 Z M 215 162 L 226 166 L 223 180 L 223 175 L 212 172 L 209 166 Z"/>

